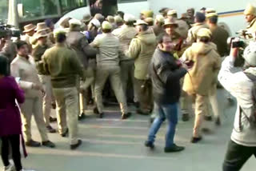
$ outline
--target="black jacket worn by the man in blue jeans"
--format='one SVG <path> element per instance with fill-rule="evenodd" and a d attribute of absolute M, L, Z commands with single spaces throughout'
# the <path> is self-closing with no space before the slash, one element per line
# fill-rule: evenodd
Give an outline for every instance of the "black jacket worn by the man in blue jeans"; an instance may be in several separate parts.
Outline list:
<path fill-rule="evenodd" d="M 163 105 L 178 102 L 181 95 L 180 79 L 186 72 L 186 69 L 178 66 L 172 54 L 155 50 L 150 63 L 154 101 Z"/>

